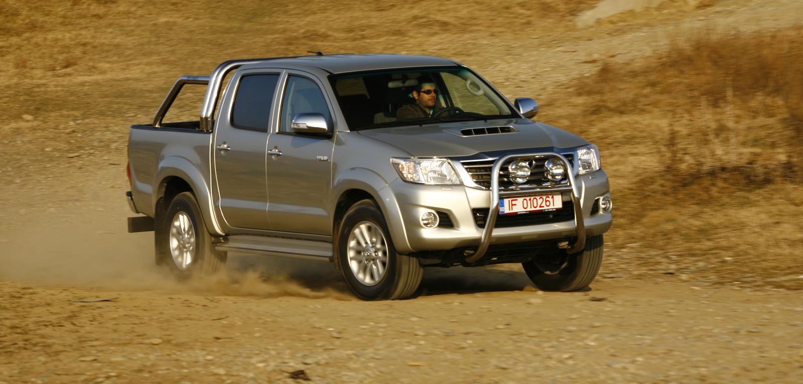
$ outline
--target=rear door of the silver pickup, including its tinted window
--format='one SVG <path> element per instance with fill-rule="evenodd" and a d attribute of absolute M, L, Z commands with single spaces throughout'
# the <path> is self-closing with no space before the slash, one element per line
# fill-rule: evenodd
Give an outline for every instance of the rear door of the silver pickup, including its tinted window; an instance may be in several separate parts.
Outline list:
<path fill-rule="evenodd" d="M 222 100 L 215 129 L 214 176 L 218 206 L 229 227 L 267 229 L 266 145 L 282 73 L 236 73 Z"/>

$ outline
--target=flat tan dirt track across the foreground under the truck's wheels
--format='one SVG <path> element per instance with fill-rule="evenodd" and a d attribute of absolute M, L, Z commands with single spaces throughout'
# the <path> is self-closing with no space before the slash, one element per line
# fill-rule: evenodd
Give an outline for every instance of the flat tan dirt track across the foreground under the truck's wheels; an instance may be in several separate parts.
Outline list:
<path fill-rule="evenodd" d="M 544 293 L 521 272 L 436 272 L 414 300 L 370 303 L 337 279 L 315 292 L 255 276 L 190 290 L 0 283 L 0 382 L 294 382 L 298 370 L 313 382 L 803 376 L 803 303 L 788 293 L 605 279 Z"/>

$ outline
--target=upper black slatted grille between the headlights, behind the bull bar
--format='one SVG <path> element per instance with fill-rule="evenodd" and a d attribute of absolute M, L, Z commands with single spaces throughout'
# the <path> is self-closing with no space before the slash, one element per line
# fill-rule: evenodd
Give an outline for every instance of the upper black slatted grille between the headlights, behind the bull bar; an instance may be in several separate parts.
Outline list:
<path fill-rule="evenodd" d="M 563 153 L 566 160 L 569 160 L 569 172 L 573 168 L 574 154 Z M 516 184 L 510 180 L 510 171 L 507 170 L 507 165 L 516 160 L 525 160 L 530 162 L 530 179 L 524 184 Z M 550 186 L 548 178 L 544 175 L 544 163 L 548 157 L 514 157 L 502 165 L 499 169 L 499 190 L 516 190 L 522 188 L 534 188 Z M 466 169 L 471 176 L 471 180 L 478 186 L 485 189 L 491 188 L 491 169 L 493 169 L 496 159 L 486 160 L 467 160 L 461 161 L 460 164 Z M 560 185 L 565 185 L 566 179 L 560 182 Z"/>

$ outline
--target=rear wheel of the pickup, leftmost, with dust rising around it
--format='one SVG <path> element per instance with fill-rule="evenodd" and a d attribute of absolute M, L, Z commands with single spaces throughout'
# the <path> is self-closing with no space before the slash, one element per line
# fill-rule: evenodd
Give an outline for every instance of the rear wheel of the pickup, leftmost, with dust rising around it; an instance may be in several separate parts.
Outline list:
<path fill-rule="evenodd" d="M 157 217 L 157 259 L 177 280 L 210 276 L 226 265 L 226 252 L 215 251 L 198 201 L 190 192 L 177 194 L 163 217 Z"/>

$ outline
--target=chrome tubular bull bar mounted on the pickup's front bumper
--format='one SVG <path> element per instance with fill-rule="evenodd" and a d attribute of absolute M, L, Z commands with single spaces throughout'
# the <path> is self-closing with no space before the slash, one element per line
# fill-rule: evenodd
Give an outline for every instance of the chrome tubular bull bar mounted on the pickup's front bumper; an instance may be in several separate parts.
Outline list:
<path fill-rule="evenodd" d="M 514 193 L 508 192 L 505 195 L 563 193 L 570 191 L 572 193 L 572 202 L 574 205 L 574 226 L 577 229 L 577 243 L 569 246 L 567 251 L 569 254 L 582 251 L 585 248 L 585 222 L 583 220 L 583 207 L 581 206 L 580 187 L 577 185 L 577 182 L 574 178 L 574 170 L 571 166 L 572 163 L 560 153 L 516 153 L 499 157 L 494 162 L 493 168 L 491 168 L 491 208 L 488 210 L 487 221 L 485 223 L 485 229 L 483 230 L 483 239 L 480 241 L 477 251 L 475 251 L 474 254 L 466 257 L 466 262 L 474 263 L 475 261 L 482 259 L 485 255 L 485 252 L 488 251 L 488 247 L 491 246 L 491 235 L 493 235 L 494 226 L 496 225 L 496 216 L 499 215 L 499 171 L 502 169 L 502 164 L 505 161 L 514 157 L 557 157 L 560 158 L 560 160 L 566 165 L 566 174 L 569 175 L 568 186 L 552 188 L 528 188 L 526 190 L 516 190 Z"/>

